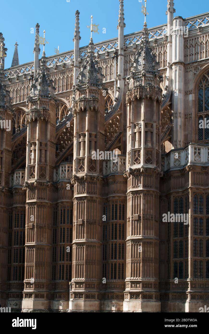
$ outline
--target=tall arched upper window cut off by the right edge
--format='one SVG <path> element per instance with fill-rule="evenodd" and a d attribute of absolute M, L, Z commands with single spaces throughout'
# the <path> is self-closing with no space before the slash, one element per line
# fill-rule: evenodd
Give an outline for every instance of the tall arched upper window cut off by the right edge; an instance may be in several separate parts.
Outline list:
<path fill-rule="evenodd" d="M 209 72 L 203 74 L 198 86 L 198 141 L 209 143 Z"/>

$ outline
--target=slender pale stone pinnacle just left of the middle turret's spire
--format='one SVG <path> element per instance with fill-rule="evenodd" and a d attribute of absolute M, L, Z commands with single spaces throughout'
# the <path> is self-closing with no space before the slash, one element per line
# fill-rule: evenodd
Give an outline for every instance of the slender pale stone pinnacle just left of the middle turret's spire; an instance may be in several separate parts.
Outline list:
<path fill-rule="evenodd" d="M 79 71 L 79 41 L 80 41 L 80 27 L 79 27 L 79 14 L 80 12 L 76 10 L 75 12 L 75 31 L 74 31 L 74 69 L 73 69 L 73 85 L 77 85 L 77 76 Z"/>

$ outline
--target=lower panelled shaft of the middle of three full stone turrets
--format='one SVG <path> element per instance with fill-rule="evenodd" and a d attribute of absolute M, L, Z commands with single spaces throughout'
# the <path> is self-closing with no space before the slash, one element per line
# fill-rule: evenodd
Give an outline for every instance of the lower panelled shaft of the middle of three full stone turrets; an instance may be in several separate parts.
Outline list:
<path fill-rule="evenodd" d="M 90 179 L 89 179 L 90 178 Z M 88 176 L 87 180 L 91 181 Z M 84 210 L 81 210 L 79 215 L 76 207 L 73 226 L 75 226 L 73 238 L 73 266 L 74 276 L 72 276 L 71 299 L 69 309 L 73 310 L 74 305 L 78 305 L 79 310 L 85 310 L 90 305 L 91 309 L 99 309 L 99 285 L 101 282 L 101 197 L 88 194 L 88 182 L 85 182 L 86 194 L 83 194 L 82 201 Z M 76 183 L 79 187 L 79 181 Z M 100 188 L 99 181 L 95 185 L 97 192 Z M 77 188 L 78 189 L 78 188 Z M 90 189 L 89 189 L 90 190 Z M 79 204 L 81 197 L 74 194 L 75 206 Z M 90 203 L 89 203 L 90 201 Z M 92 202 L 91 202 L 92 201 Z M 100 203 L 99 203 L 100 202 Z M 95 210 L 95 206 L 97 211 Z M 80 209 L 81 209 L 80 204 Z M 90 211 L 89 211 L 90 210 Z M 94 217 L 92 217 L 92 212 Z M 94 218 L 94 219 L 92 219 Z M 95 226 L 95 227 L 94 227 Z M 80 230 L 80 232 L 78 232 Z M 99 266 L 99 270 L 97 267 Z M 78 276 L 77 270 L 82 269 L 82 276 Z M 89 277 L 92 276 L 92 277 Z"/>

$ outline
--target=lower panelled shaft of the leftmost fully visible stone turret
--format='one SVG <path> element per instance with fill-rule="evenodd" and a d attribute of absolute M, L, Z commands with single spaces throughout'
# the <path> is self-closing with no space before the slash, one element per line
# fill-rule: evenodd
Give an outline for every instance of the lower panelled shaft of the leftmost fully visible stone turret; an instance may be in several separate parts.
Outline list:
<path fill-rule="evenodd" d="M 23 291 L 23 309 L 27 306 L 30 309 L 41 309 L 41 303 L 45 302 L 47 308 L 49 306 L 49 282 L 51 280 L 50 275 L 50 263 L 51 263 L 51 227 L 50 227 L 50 204 L 44 204 L 38 200 L 33 202 L 34 205 L 34 221 L 26 221 L 26 268 L 28 252 L 32 252 L 29 256 L 29 263 L 32 264 L 33 274 L 32 277 L 26 276 L 24 281 L 24 291 Z M 29 212 L 29 217 L 30 217 Z M 44 218 L 45 217 L 45 218 Z M 48 217 L 48 219 L 47 219 Z M 31 225 L 32 226 L 31 226 Z M 28 240 L 29 230 L 32 229 L 32 240 Z M 29 234 L 28 234 L 29 233 Z M 28 242 L 29 241 L 29 242 Z M 32 241 L 32 242 L 31 242 Z M 31 265 L 29 264 L 29 267 Z M 27 272 L 27 270 L 26 270 Z M 33 281 L 31 281 L 31 279 Z M 31 299 L 32 298 L 32 299 Z M 29 299 L 29 300 L 28 300 Z M 39 301 L 40 299 L 40 301 Z M 42 300 L 42 301 L 41 301 Z"/>

